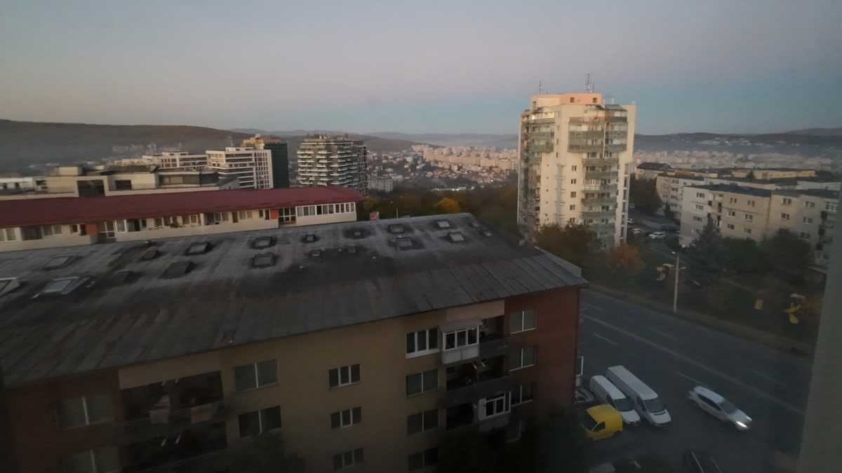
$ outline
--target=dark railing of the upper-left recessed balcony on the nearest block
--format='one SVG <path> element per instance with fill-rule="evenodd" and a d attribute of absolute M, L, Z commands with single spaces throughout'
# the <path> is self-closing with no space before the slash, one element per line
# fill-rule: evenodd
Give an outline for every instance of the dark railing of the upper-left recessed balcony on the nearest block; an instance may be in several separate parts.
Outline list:
<path fill-rule="evenodd" d="M 116 423 L 115 433 L 119 444 L 131 444 L 145 438 L 165 437 L 172 433 L 179 433 L 184 428 L 216 422 L 223 417 L 225 417 L 225 404 L 222 401 L 216 401 L 175 411 L 150 412 L 149 417 Z"/>

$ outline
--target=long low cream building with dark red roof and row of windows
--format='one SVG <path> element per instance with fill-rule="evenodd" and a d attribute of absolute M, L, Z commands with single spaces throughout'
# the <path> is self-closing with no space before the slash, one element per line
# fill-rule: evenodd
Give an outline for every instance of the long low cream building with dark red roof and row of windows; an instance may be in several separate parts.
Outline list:
<path fill-rule="evenodd" d="M 356 221 L 339 187 L 0 201 L 0 252 Z"/>

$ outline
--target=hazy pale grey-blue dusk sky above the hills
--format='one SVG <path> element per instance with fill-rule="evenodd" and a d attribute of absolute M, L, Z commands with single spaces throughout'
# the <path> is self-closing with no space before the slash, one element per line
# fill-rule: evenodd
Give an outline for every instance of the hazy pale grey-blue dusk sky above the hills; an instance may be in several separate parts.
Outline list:
<path fill-rule="evenodd" d="M 528 3 L 529 6 L 525 6 Z M 3 0 L 0 118 L 515 133 L 536 93 L 642 133 L 842 126 L 842 1 Z"/>

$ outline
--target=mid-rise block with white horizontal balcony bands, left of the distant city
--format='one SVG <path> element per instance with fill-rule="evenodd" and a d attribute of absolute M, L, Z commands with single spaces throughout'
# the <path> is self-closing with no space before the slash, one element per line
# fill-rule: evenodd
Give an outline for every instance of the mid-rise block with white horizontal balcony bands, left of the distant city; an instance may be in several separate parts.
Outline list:
<path fill-rule="evenodd" d="M 298 184 L 368 189 L 368 151 L 348 136 L 307 136 L 298 146 Z"/>

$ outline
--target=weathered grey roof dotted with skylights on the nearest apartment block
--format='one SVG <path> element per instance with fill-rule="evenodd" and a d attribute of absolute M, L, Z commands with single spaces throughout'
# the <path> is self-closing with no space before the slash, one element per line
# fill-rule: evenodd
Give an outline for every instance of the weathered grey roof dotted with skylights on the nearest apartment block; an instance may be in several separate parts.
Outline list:
<path fill-rule="evenodd" d="M 23 385 L 586 284 L 567 265 L 470 214 L 6 252 L 0 364 Z"/>

